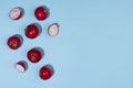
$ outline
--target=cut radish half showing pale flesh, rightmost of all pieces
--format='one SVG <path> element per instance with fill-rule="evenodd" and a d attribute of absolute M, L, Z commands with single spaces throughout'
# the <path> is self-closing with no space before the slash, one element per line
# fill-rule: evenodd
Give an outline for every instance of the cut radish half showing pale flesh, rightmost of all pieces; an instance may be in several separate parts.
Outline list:
<path fill-rule="evenodd" d="M 48 28 L 48 33 L 50 36 L 55 36 L 59 33 L 59 24 L 53 23 Z"/>

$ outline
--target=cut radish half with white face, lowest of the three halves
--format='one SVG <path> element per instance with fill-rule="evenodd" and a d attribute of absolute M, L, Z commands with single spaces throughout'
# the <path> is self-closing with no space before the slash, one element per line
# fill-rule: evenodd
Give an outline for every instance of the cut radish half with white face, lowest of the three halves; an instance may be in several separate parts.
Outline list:
<path fill-rule="evenodd" d="M 20 61 L 16 64 L 16 69 L 20 73 L 24 73 L 28 69 L 28 63 Z"/>

